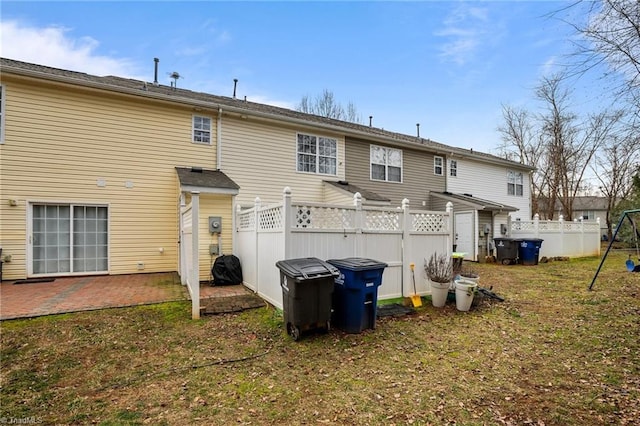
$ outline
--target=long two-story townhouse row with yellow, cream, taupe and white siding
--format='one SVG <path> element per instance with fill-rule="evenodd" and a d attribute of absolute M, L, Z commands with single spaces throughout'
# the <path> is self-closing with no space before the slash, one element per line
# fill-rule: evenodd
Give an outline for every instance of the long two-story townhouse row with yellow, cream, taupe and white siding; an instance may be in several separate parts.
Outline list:
<path fill-rule="evenodd" d="M 520 189 L 506 170 L 530 169 L 497 157 L 155 82 L 0 65 L 5 279 L 183 272 L 180 212 L 197 200 L 199 278 L 208 280 L 210 250 L 233 251 L 235 209 L 256 197 L 280 202 L 285 186 L 304 201 L 350 204 L 360 192 L 365 205 L 408 198 L 412 208 L 439 210 L 443 197 L 478 188 L 473 197 L 527 211 L 503 192 L 528 200 L 528 174 Z M 451 160 L 466 184 L 451 187 Z M 220 219 L 219 233 L 209 232 L 209 217 Z M 493 219 L 494 227 L 502 220 Z"/>

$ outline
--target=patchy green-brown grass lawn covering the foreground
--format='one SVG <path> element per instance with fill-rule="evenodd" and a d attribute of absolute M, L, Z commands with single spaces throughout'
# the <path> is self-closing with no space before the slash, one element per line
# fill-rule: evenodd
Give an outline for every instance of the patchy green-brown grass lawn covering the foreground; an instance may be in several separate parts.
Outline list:
<path fill-rule="evenodd" d="M 505 297 L 294 342 L 272 308 L 193 321 L 190 302 L 10 320 L 0 422 L 640 424 L 640 274 L 624 253 L 478 264 Z M 416 269 L 416 272 L 420 272 Z"/>

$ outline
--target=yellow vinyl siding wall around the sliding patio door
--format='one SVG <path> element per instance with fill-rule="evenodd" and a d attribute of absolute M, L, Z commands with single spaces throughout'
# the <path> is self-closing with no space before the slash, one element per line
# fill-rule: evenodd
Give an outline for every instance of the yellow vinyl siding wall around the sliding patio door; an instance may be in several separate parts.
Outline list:
<path fill-rule="evenodd" d="M 191 143 L 192 111 L 6 75 L 3 85 L 0 244 L 12 256 L 4 277 L 26 274 L 28 202 L 107 205 L 112 274 L 138 272 L 138 262 L 143 272 L 177 270 L 175 166 L 216 168 L 215 143 Z"/>

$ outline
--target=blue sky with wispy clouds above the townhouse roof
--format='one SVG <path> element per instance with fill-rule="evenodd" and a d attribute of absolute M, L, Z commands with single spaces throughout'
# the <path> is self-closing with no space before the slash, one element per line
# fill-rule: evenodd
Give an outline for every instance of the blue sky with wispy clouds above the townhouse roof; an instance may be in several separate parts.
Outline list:
<path fill-rule="evenodd" d="M 3 0 L 0 55 L 146 81 L 158 57 L 160 83 L 231 96 L 237 78 L 292 109 L 328 89 L 364 124 L 495 153 L 502 104 L 528 106 L 572 51 L 547 16 L 568 4 Z"/>

